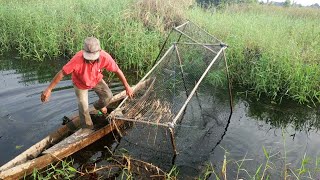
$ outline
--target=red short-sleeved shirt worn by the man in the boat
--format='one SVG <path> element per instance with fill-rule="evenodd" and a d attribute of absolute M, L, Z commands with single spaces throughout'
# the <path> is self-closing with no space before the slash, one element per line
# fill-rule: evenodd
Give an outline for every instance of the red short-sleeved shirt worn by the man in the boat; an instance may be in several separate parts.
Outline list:
<path fill-rule="evenodd" d="M 63 73 L 72 73 L 72 81 L 79 89 L 91 89 L 102 79 L 102 71 L 118 71 L 119 67 L 112 57 L 105 51 L 100 51 L 99 61 L 87 63 L 83 58 L 83 51 L 77 52 L 72 59 L 62 67 Z"/>

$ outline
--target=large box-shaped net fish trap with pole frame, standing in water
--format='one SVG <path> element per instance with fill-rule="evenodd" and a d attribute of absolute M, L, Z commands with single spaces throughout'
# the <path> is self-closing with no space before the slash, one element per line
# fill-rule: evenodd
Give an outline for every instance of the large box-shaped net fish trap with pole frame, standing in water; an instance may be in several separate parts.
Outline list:
<path fill-rule="evenodd" d="M 144 86 L 119 106 L 118 118 L 134 123 L 117 148 L 170 170 L 172 128 L 180 153 L 176 162 L 194 166 L 210 156 L 232 113 L 224 48 L 191 22 L 175 28 L 157 63 L 140 81 Z"/>

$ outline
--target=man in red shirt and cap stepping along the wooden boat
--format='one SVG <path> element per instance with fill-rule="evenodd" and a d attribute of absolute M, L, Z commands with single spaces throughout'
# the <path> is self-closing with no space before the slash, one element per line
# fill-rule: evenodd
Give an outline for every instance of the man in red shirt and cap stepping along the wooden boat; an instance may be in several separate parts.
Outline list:
<path fill-rule="evenodd" d="M 127 96 L 132 98 L 133 91 L 116 62 L 107 52 L 101 50 L 100 42 L 97 38 L 87 37 L 84 40 L 83 50 L 77 52 L 62 67 L 62 70 L 55 75 L 50 85 L 42 92 L 41 101 L 48 101 L 52 89 L 65 75 L 72 74 L 82 128 L 93 129 L 93 123 L 89 114 L 88 90 L 93 89 L 97 93 L 99 99 L 94 102 L 93 106 L 102 113 L 107 113 L 106 106 L 112 98 L 112 92 L 103 80 L 103 69 L 114 72 L 123 83 Z"/>

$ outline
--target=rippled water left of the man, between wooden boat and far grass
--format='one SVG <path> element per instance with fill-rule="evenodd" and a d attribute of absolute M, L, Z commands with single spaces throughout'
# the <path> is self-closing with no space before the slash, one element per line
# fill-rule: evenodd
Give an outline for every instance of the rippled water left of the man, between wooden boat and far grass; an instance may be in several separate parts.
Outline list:
<path fill-rule="evenodd" d="M 51 101 L 40 94 L 66 61 L 31 62 L 0 59 L 0 164 L 4 164 L 61 125 L 62 117 L 76 112 L 70 80 L 62 81 Z"/>

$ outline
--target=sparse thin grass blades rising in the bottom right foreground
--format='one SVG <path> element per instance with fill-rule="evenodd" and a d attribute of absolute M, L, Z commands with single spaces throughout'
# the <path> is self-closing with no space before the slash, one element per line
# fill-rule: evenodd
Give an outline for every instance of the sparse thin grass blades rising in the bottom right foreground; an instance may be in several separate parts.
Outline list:
<path fill-rule="evenodd" d="M 285 148 L 285 142 L 284 142 Z M 205 170 L 199 176 L 199 180 L 208 179 L 317 179 L 320 172 L 319 157 L 311 159 L 306 154 L 300 160 L 300 167 L 291 167 L 287 162 L 287 152 L 270 152 L 262 147 L 264 162 L 250 168 L 250 162 L 255 159 L 249 159 L 246 154 L 243 159 L 228 159 L 230 153 L 225 150 L 224 159 L 219 168 L 208 163 Z M 279 163 L 280 161 L 280 163 Z M 247 167 L 247 165 L 249 167 Z M 251 164 L 252 166 L 252 164 Z"/>

